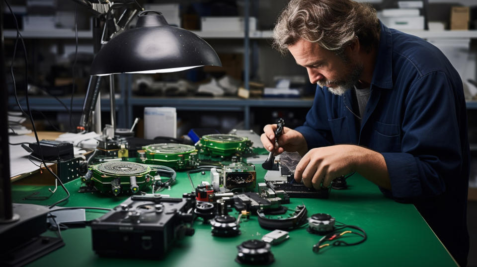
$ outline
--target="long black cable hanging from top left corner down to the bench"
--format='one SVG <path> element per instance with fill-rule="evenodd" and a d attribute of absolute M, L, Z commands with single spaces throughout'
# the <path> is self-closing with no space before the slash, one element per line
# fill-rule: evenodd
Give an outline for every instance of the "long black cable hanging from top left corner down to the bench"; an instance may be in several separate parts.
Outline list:
<path fill-rule="evenodd" d="M 4 0 L 4 2 L 8 6 L 8 9 L 10 10 L 10 13 L 12 14 L 13 19 L 15 20 L 17 40 L 18 40 L 18 37 L 20 37 L 20 41 L 21 41 L 21 44 L 22 44 L 22 47 L 23 47 L 23 53 L 24 53 L 24 56 L 25 56 L 25 84 L 24 85 L 25 85 L 26 107 L 27 107 L 27 110 L 28 110 L 28 117 L 30 118 L 30 122 L 31 122 L 31 125 L 32 125 L 32 128 L 33 128 L 33 132 L 35 133 L 36 142 L 38 144 L 38 147 L 41 147 L 40 146 L 40 139 L 38 138 L 38 133 L 36 132 L 35 123 L 33 121 L 33 116 L 31 114 L 30 100 L 28 99 L 28 82 L 27 82 L 27 80 L 28 80 L 27 79 L 27 77 L 28 77 L 28 58 L 27 58 L 25 41 L 23 40 L 23 37 L 20 34 L 20 27 L 18 26 L 18 21 L 16 20 L 15 14 L 11 10 L 10 4 L 8 3 L 7 0 Z M 15 94 L 16 94 L 16 92 L 15 92 Z M 46 166 L 45 160 L 43 158 L 43 151 L 41 149 L 39 149 L 39 150 L 40 150 L 40 156 L 41 156 L 42 162 Z M 59 201 L 55 202 L 53 205 L 50 206 L 50 207 L 53 207 L 53 206 L 57 205 L 58 203 L 61 203 L 61 202 L 64 202 L 64 201 L 68 200 L 68 198 L 70 198 L 70 192 L 68 192 L 68 189 L 66 189 L 65 185 L 63 185 L 63 182 L 60 180 L 60 178 L 50 168 L 46 167 L 46 169 L 58 180 L 61 187 L 63 188 L 63 190 L 65 190 L 65 192 L 67 194 L 66 198 L 64 198 L 62 200 L 59 200 Z"/>

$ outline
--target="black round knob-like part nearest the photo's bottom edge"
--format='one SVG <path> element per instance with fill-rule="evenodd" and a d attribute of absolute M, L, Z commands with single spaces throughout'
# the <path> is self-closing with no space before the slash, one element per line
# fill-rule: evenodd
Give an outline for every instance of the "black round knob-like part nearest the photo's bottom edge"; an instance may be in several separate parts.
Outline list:
<path fill-rule="evenodd" d="M 237 246 L 236 262 L 239 264 L 268 265 L 275 261 L 270 244 L 261 240 L 248 240 Z"/>

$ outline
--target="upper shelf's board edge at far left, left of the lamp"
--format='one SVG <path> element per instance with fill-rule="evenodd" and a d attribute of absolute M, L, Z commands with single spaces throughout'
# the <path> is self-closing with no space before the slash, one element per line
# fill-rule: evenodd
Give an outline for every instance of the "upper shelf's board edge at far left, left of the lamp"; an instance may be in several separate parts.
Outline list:
<path fill-rule="evenodd" d="M 21 36 L 24 39 L 74 39 L 75 31 L 71 29 L 54 29 L 51 31 L 38 30 L 38 31 L 20 31 Z M 4 30 L 4 38 L 13 39 L 16 38 L 16 30 Z M 92 31 L 78 31 L 78 38 L 92 39 Z"/>

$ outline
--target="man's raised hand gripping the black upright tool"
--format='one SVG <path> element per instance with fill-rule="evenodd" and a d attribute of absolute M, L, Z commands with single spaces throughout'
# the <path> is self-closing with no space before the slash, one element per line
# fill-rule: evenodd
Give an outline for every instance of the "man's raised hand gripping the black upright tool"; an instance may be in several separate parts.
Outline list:
<path fill-rule="evenodd" d="M 275 144 L 276 124 L 269 124 L 263 128 L 263 134 L 260 136 L 263 147 L 268 151 L 273 151 L 274 155 L 287 152 L 298 152 L 305 155 L 308 152 L 308 145 L 305 137 L 295 130 L 283 127 L 283 134 L 278 137 L 278 145 Z"/>

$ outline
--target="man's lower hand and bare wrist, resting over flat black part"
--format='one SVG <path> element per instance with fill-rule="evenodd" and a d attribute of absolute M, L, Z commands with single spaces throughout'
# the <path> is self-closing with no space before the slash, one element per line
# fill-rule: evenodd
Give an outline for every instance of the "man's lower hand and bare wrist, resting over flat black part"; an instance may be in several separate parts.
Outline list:
<path fill-rule="evenodd" d="M 263 142 L 263 141 L 262 141 Z M 358 145 L 333 145 L 313 148 L 300 160 L 295 180 L 317 190 L 328 187 L 336 177 L 358 172 L 366 179 L 391 189 L 383 155 Z"/>

